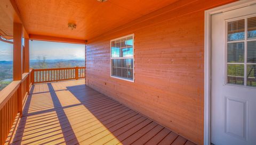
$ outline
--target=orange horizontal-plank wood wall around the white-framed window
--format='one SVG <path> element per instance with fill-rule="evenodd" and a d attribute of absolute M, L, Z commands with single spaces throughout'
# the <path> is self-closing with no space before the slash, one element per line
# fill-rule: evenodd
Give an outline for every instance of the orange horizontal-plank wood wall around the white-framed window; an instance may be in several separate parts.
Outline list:
<path fill-rule="evenodd" d="M 86 84 L 203 144 L 204 11 L 233 1 L 182 0 L 86 45 Z M 110 78 L 110 40 L 134 33 L 135 82 Z"/>

